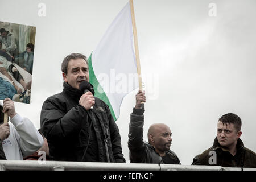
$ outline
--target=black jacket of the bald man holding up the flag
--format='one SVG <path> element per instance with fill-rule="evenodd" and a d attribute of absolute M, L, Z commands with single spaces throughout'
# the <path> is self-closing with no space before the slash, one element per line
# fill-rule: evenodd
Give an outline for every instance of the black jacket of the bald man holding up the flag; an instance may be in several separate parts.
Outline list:
<path fill-rule="evenodd" d="M 156 163 L 163 164 L 162 157 L 155 151 L 155 148 L 148 142 L 143 142 L 144 110 L 133 109 L 130 115 L 129 140 L 130 163 Z M 177 155 L 169 150 L 166 151 L 168 164 L 180 164 Z"/>

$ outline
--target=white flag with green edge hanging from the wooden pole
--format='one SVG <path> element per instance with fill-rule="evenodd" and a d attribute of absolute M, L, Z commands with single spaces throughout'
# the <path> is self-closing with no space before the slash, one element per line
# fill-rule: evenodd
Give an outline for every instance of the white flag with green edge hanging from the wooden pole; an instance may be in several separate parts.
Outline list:
<path fill-rule="evenodd" d="M 138 87 L 129 3 L 110 24 L 88 62 L 94 96 L 108 104 L 116 121 L 123 97 Z"/>

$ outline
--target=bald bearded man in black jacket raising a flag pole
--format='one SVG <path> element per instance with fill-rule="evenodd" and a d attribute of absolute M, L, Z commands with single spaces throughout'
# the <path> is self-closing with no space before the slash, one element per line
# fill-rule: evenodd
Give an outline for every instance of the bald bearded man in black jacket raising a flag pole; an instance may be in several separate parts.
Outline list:
<path fill-rule="evenodd" d="M 145 93 L 136 94 L 136 104 L 130 115 L 129 140 L 130 163 L 180 164 L 177 155 L 170 150 L 172 133 L 164 123 L 154 123 L 148 129 L 148 142 L 143 141 Z"/>

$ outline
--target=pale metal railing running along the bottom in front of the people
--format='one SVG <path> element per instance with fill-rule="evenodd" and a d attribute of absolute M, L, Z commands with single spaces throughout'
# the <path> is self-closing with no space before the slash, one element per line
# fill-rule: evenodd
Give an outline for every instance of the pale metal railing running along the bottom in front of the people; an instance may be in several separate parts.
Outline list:
<path fill-rule="evenodd" d="M 242 168 L 177 164 L 94 163 L 41 160 L 0 160 L 0 171 L 242 171 Z M 256 171 L 256 168 L 243 168 Z"/>

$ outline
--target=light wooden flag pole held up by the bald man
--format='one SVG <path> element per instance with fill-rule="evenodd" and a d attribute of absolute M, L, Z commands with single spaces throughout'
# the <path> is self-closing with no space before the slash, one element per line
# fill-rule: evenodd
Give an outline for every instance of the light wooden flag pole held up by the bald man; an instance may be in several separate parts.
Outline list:
<path fill-rule="evenodd" d="M 137 72 L 139 79 L 139 90 L 142 90 L 142 78 L 141 78 L 141 63 L 139 61 L 139 47 L 138 47 L 138 38 L 137 38 L 137 29 L 134 15 L 133 0 L 130 0 L 130 9 L 131 9 L 131 22 L 133 23 L 133 37 L 134 37 L 134 47 L 135 47 L 135 56 L 137 63 Z"/>

